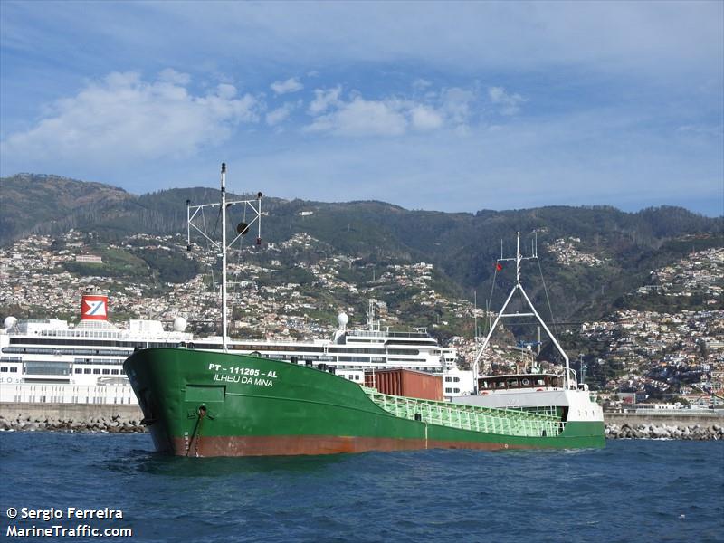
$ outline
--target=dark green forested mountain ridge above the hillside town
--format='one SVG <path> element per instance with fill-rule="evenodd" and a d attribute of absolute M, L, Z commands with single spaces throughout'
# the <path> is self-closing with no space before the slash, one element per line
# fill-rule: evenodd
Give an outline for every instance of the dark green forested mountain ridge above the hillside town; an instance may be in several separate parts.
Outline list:
<path fill-rule="evenodd" d="M 231 197 L 250 197 L 231 195 Z M 58 176 L 20 174 L 0 179 L 0 245 L 29 233 L 62 233 L 70 228 L 94 233 L 101 241 L 134 233 L 186 232 L 186 200 L 213 202 L 211 188 L 164 190 L 131 195 L 100 183 Z M 650 271 L 674 262 L 692 250 L 722 246 L 722 218 L 708 218 L 679 207 L 624 213 L 613 207 L 548 206 L 476 214 L 411 211 L 384 202 L 322 203 L 264 198 L 268 214 L 262 237 L 280 243 L 294 233 L 309 233 L 337 252 L 360 259 L 358 267 L 394 262 L 430 262 L 441 273 L 446 291 L 472 299 L 490 296 L 500 240 L 505 256 L 514 251 L 520 232 L 526 252 L 538 231 L 538 266 L 527 269 L 527 289 L 537 304 L 546 290 L 556 300 L 558 319 L 595 319 L 620 307 L 625 296 L 646 284 Z M 207 215 L 213 228 L 217 215 Z M 231 218 L 242 222 L 243 215 Z M 230 226 L 230 229 L 233 227 Z M 574 238 L 575 242 L 565 242 Z M 563 240 L 561 255 L 555 248 Z M 575 244 L 575 247 L 574 245 Z M 566 247 L 585 256 L 563 262 Z M 583 259 L 583 260 L 581 260 Z M 580 262 L 579 262 L 580 261 Z M 147 258 L 149 266 L 163 264 Z M 493 290 L 491 307 L 499 307 L 506 291 L 502 281 Z"/>

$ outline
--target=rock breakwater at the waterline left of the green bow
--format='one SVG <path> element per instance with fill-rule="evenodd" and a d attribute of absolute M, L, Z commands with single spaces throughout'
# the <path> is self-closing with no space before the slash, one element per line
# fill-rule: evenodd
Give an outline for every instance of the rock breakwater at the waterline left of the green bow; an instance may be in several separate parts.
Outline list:
<path fill-rule="evenodd" d="M 98 416 L 88 419 L 56 418 L 53 416 L 18 415 L 6 419 L 0 416 L 0 431 L 56 431 L 56 432 L 106 432 L 133 433 L 146 432 L 146 426 L 138 418 L 127 418 L 121 414 L 108 417 Z"/>

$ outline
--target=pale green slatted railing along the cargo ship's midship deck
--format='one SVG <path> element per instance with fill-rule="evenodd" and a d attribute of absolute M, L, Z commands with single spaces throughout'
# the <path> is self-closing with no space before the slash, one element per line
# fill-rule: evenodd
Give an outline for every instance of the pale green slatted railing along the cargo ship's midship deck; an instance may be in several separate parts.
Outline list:
<path fill-rule="evenodd" d="M 539 408 L 538 413 L 523 409 L 494 409 L 380 394 L 375 388 L 366 386 L 362 389 L 387 413 L 427 424 L 525 437 L 555 437 L 563 432 L 565 425 L 555 415 L 555 408 Z"/>

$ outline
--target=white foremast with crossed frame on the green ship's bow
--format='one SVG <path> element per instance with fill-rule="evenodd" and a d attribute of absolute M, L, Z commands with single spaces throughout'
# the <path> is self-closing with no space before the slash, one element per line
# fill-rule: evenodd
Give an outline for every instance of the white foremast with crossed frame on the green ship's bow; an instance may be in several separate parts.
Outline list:
<path fill-rule="evenodd" d="M 236 236 L 233 238 L 233 240 L 230 243 L 226 243 L 226 210 L 228 207 L 231 207 L 232 205 L 243 205 L 243 220 L 241 223 L 237 224 L 236 226 Z M 214 208 L 219 207 L 219 213 L 221 214 L 221 243 L 218 241 L 212 239 L 204 230 L 202 230 L 198 224 L 195 224 L 195 220 L 201 220 L 202 226 L 205 228 L 205 216 L 204 211 L 206 208 Z M 247 210 L 251 210 L 251 218 L 249 219 L 249 222 L 246 222 L 246 212 Z M 191 230 L 192 228 L 200 233 L 206 241 L 211 243 L 214 246 L 214 249 L 216 249 L 219 252 L 219 256 L 221 257 L 221 322 L 222 322 L 222 346 L 224 348 L 224 352 L 228 350 L 227 348 L 227 323 L 228 323 L 228 312 L 227 312 L 227 292 L 226 292 L 226 259 L 227 259 L 227 251 L 228 249 L 233 245 L 233 243 L 236 243 L 239 238 L 249 233 L 251 227 L 253 224 L 257 225 L 257 236 L 256 236 L 256 244 L 261 245 L 262 244 L 262 193 L 257 193 L 256 199 L 253 200 L 233 200 L 233 201 L 227 201 L 226 200 L 226 163 L 223 162 L 221 165 L 221 202 L 219 203 L 213 203 L 213 204 L 203 204 L 203 205 L 191 205 L 191 200 L 186 200 L 186 235 L 187 235 L 187 244 L 186 248 L 188 251 L 191 251 Z"/>

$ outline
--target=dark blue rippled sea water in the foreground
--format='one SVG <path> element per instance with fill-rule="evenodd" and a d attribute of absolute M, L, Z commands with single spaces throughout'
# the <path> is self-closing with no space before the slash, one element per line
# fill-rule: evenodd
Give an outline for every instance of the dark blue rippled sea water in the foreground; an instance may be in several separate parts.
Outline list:
<path fill-rule="evenodd" d="M 724 442 L 195 459 L 153 452 L 148 434 L 5 432 L 0 506 L 6 540 L 33 526 L 25 540 L 99 540 L 37 531 L 86 526 L 134 542 L 705 543 L 724 541 Z"/>

